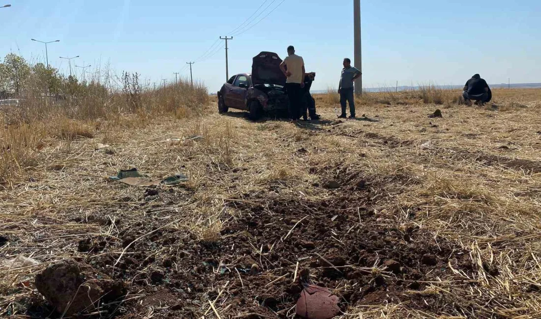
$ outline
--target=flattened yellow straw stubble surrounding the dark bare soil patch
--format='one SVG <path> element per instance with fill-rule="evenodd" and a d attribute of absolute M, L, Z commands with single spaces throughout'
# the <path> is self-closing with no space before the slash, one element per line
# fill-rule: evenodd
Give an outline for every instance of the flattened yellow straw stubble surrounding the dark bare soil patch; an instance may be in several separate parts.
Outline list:
<path fill-rule="evenodd" d="M 372 304 L 345 305 L 342 317 L 536 318 L 541 312 L 541 176 L 537 171 L 541 165 L 537 120 L 541 90 L 493 93 L 499 108 L 490 110 L 460 105 L 457 91 L 427 89 L 427 102 L 425 93 L 417 91 L 368 93 L 358 97 L 358 112 L 373 121 L 335 121 L 333 108 L 338 101 L 333 93 L 315 97 L 318 113 L 330 119 L 322 124 L 252 123 L 215 113 L 197 116 L 193 110 L 200 106 L 196 104 L 206 100 L 194 98 L 186 104 L 188 119 L 177 120 L 177 112 L 159 107 L 146 113 L 173 116 L 150 116 L 144 126 L 121 125 L 128 121 L 124 116 L 106 121 L 63 120 L 69 138 L 60 141 L 62 135 L 51 134 L 46 126 L 8 126 L 0 131 L 2 140 L 16 145 L 18 153 L 3 142 L 0 230 L 12 241 L 0 252 L 5 257 L 21 253 L 42 264 L 0 274 L 0 316 L 25 313 L 25 298 L 37 295 L 31 281 L 48 264 L 74 257 L 93 260 L 94 255 L 77 251 L 79 240 L 105 239 L 108 246 L 103 254 L 118 256 L 122 229 L 139 222 L 149 228 L 174 222 L 164 228 L 164 234 L 226 249 L 231 235 L 223 231 L 247 214 L 236 210 L 239 203 L 256 205 L 257 218 L 273 214 L 267 206 L 269 198 L 325 202 L 337 195 L 351 200 L 365 196 L 346 187 L 314 186 L 332 178 L 344 185 L 366 180 L 380 225 L 417 226 L 431 235 L 425 239 L 431 244 L 454 245 L 471 266 L 449 260 L 445 268 L 450 273 L 427 283 L 424 290 L 405 291 L 401 302 L 382 295 Z M 179 103 L 168 98 L 161 101 Z M 441 104 L 447 106 L 444 117 L 428 119 Z M 132 123 L 141 114 L 130 116 Z M 42 129 L 34 130 L 38 127 Z M 78 138 L 84 136 L 81 132 L 93 136 Z M 428 140 L 431 147 L 419 147 Z M 98 141 L 107 141 L 117 152 L 95 151 Z M 306 152 L 299 152 L 301 148 Z M 184 172 L 190 180 L 177 187 L 158 187 L 157 197 L 107 181 L 108 175 L 131 167 L 152 177 Z M 340 210 L 340 214 L 346 212 Z M 246 240 L 256 242 L 251 237 Z M 254 252 L 265 264 L 270 255 L 260 247 L 254 245 Z M 161 260 L 178 254 L 175 249 L 175 245 L 159 245 L 152 254 Z M 149 267 L 141 272 L 160 266 Z M 308 267 L 308 262 L 302 267 Z M 380 261 L 372 270 L 380 274 L 381 268 Z M 192 269 L 179 268 L 183 271 Z M 286 268 L 274 273 L 262 269 L 261 275 L 270 282 L 283 274 Z M 198 317 L 206 313 L 206 296 L 212 293 L 218 296 L 216 311 L 222 318 L 241 314 L 233 290 L 223 288 L 218 276 L 215 280 L 203 288 L 207 292 L 200 304 L 204 306 L 194 307 L 194 313 Z M 235 277 L 231 286 L 242 289 L 250 277 L 241 280 Z M 24 288 L 27 281 L 30 285 Z M 342 291 L 344 287 L 340 282 L 329 288 Z M 269 291 L 274 293 L 272 288 Z M 218 295 L 219 289 L 224 293 Z M 148 291 L 137 291 L 129 297 L 140 302 L 144 311 L 163 306 L 151 303 Z M 434 308 L 420 309 L 413 307 L 412 300 L 439 302 Z M 209 315 L 214 316 L 210 312 L 205 317 Z"/>

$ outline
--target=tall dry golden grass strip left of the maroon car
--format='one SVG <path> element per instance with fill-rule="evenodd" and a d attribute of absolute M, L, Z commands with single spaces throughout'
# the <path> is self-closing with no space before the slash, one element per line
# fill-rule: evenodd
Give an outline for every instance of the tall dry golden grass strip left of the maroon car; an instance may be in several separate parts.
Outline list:
<path fill-rule="evenodd" d="M 203 86 L 192 87 L 183 81 L 159 90 L 135 87 L 136 91 L 128 94 L 91 83 L 77 96 L 64 100 L 42 98 L 38 87 L 28 87 L 22 94 L 21 107 L 2 112 L 0 182 L 36 165 L 40 160 L 35 152 L 38 144 L 93 138 L 97 131 L 104 131 L 102 138 L 107 143 L 118 127 L 142 128 L 156 117 L 198 116 L 201 105 L 209 99 Z"/>

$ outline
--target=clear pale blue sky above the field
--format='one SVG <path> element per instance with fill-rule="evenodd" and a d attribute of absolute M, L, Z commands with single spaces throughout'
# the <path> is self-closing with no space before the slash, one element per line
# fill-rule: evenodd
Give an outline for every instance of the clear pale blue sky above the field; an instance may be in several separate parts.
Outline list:
<path fill-rule="evenodd" d="M 49 45 L 49 62 L 64 72 L 67 61 L 58 57 L 80 55 L 74 64 L 110 63 L 157 83 L 174 80 L 173 72 L 189 76 L 186 62 L 195 60 L 194 78 L 214 92 L 226 78 L 224 43 L 216 39 L 265 0 L 0 1 L 12 5 L 0 9 L 2 57 L 13 51 L 42 61 L 44 46 L 30 38 L 59 39 Z M 541 82 L 539 0 L 361 1 L 361 10 L 365 87 L 463 84 L 473 73 L 494 84 Z M 216 53 L 198 59 L 213 44 Z M 260 51 L 284 57 L 289 44 L 318 73 L 315 90 L 337 86 L 342 58 L 353 58 L 353 2 L 285 0 L 229 42 L 229 73 L 249 72 Z"/>

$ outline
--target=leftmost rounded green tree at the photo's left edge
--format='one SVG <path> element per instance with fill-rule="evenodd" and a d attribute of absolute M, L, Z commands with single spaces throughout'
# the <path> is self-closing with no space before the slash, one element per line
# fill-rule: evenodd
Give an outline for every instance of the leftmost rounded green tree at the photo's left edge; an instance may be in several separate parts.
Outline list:
<path fill-rule="evenodd" d="M 5 56 L 0 63 L 0 87 L 2 90 L 13 90 L 19 94 L 30 76 L 30 66 L 23 57 L 15 53 Z"/>

